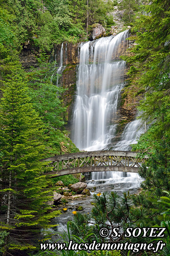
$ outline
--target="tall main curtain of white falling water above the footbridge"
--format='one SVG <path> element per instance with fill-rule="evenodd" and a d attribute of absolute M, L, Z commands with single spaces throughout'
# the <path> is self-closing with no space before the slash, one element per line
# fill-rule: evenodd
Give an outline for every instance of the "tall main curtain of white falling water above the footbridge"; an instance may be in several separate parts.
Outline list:
<path fill-rule="evenodd" d="M 128 31 L 81 43 L 72 140 L 79 149 L 105 149 L 114 138 L 120 91 L 126 63 L 119 56 L 127 48 Z"/>

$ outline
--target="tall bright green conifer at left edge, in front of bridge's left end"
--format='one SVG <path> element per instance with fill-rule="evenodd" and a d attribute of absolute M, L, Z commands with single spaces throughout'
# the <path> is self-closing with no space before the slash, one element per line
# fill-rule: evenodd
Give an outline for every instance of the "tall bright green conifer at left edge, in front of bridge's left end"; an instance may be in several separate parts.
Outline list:
<path fill-rule="evenodd" d="M 33 109 L 26 83 L 20 75 L 3 81 L 0 101 L 0 229 L 6 232 L 2 247 L 5 255 L 27 255 L 36 248 L 41 228 L 59 211 L 50 213 L 52 191 L 43 175 L 44 130 Z"/>

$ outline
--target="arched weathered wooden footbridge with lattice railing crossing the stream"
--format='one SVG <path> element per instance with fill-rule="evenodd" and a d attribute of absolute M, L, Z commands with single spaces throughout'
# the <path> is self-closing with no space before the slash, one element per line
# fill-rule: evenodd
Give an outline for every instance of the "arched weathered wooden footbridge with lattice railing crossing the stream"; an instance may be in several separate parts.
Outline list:
<path fill-rule="evenodd" d="M 141 163 L 148 157 L 139 158 L 137 154 L 132 151 L 85 151 L 44 158 L 42 161 L 47 161 L 47 166 L 52 167 L 52 171 L 47 173 L 52 177 L 92 171 L 138 173 Z"/>

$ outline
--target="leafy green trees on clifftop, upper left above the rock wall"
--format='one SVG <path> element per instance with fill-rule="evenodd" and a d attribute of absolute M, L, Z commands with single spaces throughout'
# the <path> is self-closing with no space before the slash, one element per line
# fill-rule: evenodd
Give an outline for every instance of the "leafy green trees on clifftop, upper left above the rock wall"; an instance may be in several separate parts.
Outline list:
<path fill-rule="evenodd" d="M 107 16 L 111 1 L 90 0 L 2 0 L 0 8 L 0 43 L 8 47 L 50 51 L 63 41 L 78 42 L 88 25 L 99 22 L 113 25 Z"/>

